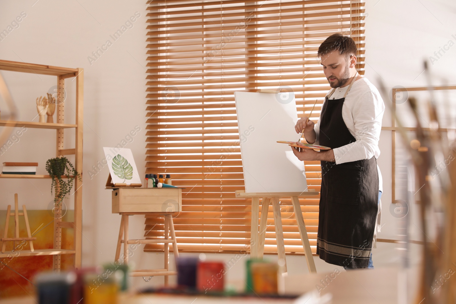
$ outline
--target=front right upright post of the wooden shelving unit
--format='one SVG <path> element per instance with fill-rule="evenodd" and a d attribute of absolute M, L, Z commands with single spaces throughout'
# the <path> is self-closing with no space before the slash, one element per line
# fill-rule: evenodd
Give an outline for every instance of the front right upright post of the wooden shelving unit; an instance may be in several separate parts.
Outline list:
<path fill-rule="evenodd" d="M 83 176 L 83 104 L 84 104 L 84 70 L 78 68 L 76 76 L 76 146 L 75 169 Z M 74 250 L 76 251 L 74 267 L 81 268 L 82 230 L 83 230 L 83 192 L 82 179 L 74 181 Z"/>

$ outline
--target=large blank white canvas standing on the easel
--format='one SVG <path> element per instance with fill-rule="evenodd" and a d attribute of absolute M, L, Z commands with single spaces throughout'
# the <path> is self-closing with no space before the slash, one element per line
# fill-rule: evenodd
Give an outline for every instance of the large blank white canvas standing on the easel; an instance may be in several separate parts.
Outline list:
<path fill-rule="evenodd" d="M 239 142 L 246 192 L 307 191 L 304 162 L 288 144 L 297 141 L 298 121 L 293 95 L 234 92 L 238 114 Z"/>

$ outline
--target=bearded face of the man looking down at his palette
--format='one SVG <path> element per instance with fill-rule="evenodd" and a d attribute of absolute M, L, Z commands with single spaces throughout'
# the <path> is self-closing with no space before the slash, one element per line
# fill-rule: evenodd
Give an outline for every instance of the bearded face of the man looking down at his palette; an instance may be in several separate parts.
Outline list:
<path fill-rule="evenodd" d="M 350 78 L 350 61 L 347 56 L 332 51 L 321 56 L 321 65 L 331 88 L 340 88 Z"/>

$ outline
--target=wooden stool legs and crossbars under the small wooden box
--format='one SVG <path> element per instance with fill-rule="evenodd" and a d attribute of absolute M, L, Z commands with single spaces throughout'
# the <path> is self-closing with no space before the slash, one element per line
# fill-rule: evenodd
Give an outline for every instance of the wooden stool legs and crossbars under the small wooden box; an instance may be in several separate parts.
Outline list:
<path fill-rule="evenodd" d="M 168 286 L 168 276 L 177 275 L 176 271 L 169 271 L 169 244 L 172 244 L 174 252 L 174 261 L 176 262 L 179 258 L 179 252 L 177 251 L 176 232 L 174 231 L 174 223 L 172 221 L 172 215 L 176 212 L 120 212 L 122 219 L 120 220 L 119 239 L 117 241 L 117 249 L 115 252 L 115 261 L 119 261 L 120 258 L 120 247 L 124 243 L 124 257 L 123 262 L 125 265 L 128 264 L 128 244 L 161 244 L 165 246 L 165 267 L 163 269 L 139 269 L 130 272 L 132 277 L 144 277 L 144 276 L 165 276 L 165 286 Z M 144 214 L 153 215 L 155 217 L 165 217 L 165 238 L 160 239 L 141 239 L 141 240 L 130 240 L 128 238 L 128 216 Z M 169 237 L 171 232 L 171 238 Z M 123 236 L 123 238 L 122 238 Z M 121 261 L 120 261 L 121 262 Z M 177 265 L 177 263 L 176 263 Z"/>

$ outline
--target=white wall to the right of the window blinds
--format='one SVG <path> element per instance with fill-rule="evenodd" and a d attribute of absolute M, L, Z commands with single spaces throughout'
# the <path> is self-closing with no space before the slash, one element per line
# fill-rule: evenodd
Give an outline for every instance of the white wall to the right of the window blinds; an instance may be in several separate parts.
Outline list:
<path fill-rule="evenodd" d="M 447 46 L 446 53 L 436 57 L 440 47 L 449 41 L 456 43 L 456 3 L 452 0 L 367 0 L 366 1 L 366 74 L 371 82 L 378 84 L 379 77 L 388 87 L 421 87 L 428 85 L 423 60 L 430 63 L 433 85 L 456 84 L 456 47 Z M 454 35 L 454 36 L 452 36 Z M 437 61 L 430 62 L 430 56 Z M 426 93 L 409 93 L 419 96 L 420 103 L 429 98 Z M 454 96 L 454 95 L 453 95 Z M 391 104 L 391 100 L 384 100 Z M 452 100 L 452 108 L 456 99 Z M 388 109 L 387 105 L 387 109 Z M 403 113 L 407 103 L 397 104 L 398 113 Z M 403 118 L 403 117 L 401 117 Z M 454 120 L 454 117 L 452 117 Z M 426 118 L 424 119 L 426 121 Z M 412 126 L 413 124 L 410 124 Z M 391 126 L 390 111 L 383 116 L 383 126 Z M 427 125 L 425 125 L 427 127 Z M 399 137 L 399 134 L 397 134 Z M 382 151 L 378 165 L 383 175 L 382 232 L 381 238 L 397 239 L 397 227 L 401 219 L 390 212 L 391 206 L 391 131 L 382 131 Z M 416 189 L 418 190 L 418 189 Z M 420 240 L 418 210 L 409 206 L 412 238 Z"/>

